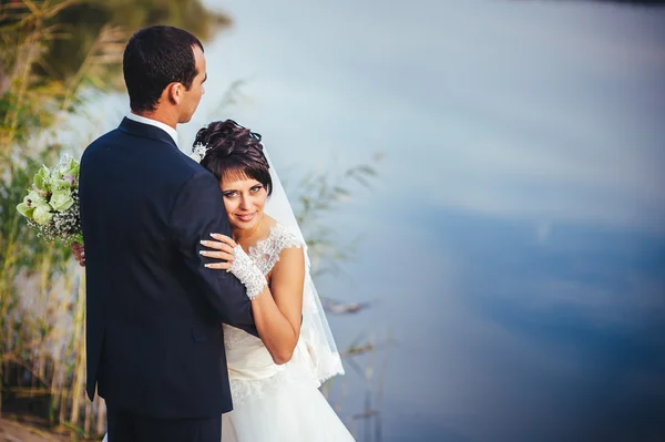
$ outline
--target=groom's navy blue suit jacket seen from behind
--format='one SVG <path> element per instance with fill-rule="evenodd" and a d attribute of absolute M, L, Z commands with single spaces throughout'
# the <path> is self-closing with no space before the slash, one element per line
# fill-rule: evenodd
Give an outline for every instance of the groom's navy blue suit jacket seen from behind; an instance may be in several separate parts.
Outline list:
<path fill-rule="evenodd" d="M 83 153 L 80 197 L 89 397 L 161 419 L 229 411 L 222 322 L 257 331 L 245 287 L 198 253 L 231 234 L 216 178 L 124 119 Z"/>

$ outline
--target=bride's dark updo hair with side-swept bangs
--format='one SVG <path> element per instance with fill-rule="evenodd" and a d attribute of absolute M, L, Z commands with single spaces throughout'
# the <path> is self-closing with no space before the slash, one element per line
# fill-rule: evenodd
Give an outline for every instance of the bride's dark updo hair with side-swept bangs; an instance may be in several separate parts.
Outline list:
<path fill-rule="evenodd" d="M 273 193 L 273 179 L 259 134 L 233 120 L 215 121 L 198 131 L 194 146 L 200 144 L 206 147 L 201 165 L 219 182 L 223 177 L 249 177 L 263 184 L 268 196 Z"/>

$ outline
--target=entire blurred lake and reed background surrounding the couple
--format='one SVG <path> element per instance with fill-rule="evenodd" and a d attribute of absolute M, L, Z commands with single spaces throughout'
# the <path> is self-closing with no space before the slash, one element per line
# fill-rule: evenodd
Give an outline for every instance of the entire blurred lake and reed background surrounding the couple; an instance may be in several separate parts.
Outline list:
<path fill-rule="evenodd" d="M 14 207 L 153 23 L 205 44 L 181 148 L 231 117 L 286 182 L 358 441 L 665 440 L 662 3 L 0 2 L 0 440 L 104 432 L 82 271 Z"/>

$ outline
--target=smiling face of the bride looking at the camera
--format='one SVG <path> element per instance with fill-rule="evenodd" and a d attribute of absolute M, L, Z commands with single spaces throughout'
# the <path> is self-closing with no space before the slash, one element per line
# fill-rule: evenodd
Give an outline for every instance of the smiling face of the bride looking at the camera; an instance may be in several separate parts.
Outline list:
<path fill-rule="evenodd" d="M 249 177 L 222 179 L 222 195 L 232 228 L 248 230 L 256 227 L 268 197 L 263 184 Z"/>

